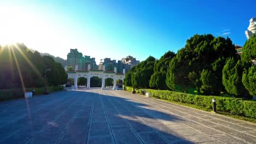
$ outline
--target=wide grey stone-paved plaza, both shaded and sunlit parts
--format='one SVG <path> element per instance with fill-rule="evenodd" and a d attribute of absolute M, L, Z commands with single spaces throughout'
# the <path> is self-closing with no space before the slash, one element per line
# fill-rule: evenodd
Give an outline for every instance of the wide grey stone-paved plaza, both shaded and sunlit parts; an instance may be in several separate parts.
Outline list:
<path fill-rule="evenodd" d="M 256 144 L 256 125 L 126 91 L 0 102 L 0 144 Z"/>

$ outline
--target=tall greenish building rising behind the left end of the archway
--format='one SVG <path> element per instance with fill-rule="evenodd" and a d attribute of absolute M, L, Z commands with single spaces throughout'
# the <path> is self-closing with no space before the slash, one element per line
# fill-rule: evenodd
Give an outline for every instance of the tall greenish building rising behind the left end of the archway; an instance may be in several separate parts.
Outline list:
<path fill-rule="evenodd" d="M 91 64 L 91 69 L 98 69 L 95 58 L 83 56 L 77 49 L 70 49 L 70 52 L 67 54 L 67 66 L 72 66 L 75 69 L 75 65 L 77 65 L 78 70 L 87 70 L 88 64 Z"/>

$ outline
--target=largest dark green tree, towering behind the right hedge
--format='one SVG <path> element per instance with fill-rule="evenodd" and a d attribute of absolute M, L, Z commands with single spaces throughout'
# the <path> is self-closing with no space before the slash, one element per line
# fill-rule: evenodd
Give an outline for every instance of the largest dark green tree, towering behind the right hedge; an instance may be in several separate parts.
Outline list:
<path fill-rule="evenodd" d="M 235 56 L 235 46 L 229 38 L 213 37 L 210 34 L 194 35 L 171 60 L 166 84 L 173 91 L 181 88 L 181 91 L 187 92 L 192 88 L 205 94 L 220 93 L 224 89 L 222 69 L 225 60 Z"/>

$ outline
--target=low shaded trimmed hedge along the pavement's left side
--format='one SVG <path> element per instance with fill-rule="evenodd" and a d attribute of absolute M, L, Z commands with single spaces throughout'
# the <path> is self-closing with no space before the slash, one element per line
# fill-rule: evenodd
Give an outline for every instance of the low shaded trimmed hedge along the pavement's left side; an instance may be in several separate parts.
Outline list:
<path fill-rule="evenodd" d="M 47 87 L 50 92 L 52 91 L 61 91 L 63 90 L 63 86 L 49 86 Z M 31 92 L 35 90 L 35 95 L 43 94 L 44 88 L 26 88 L 27 92 Z M 8 100 L 8 99 L 17 99 L 24 97 L 24 92 L 22 88 L 15 88 L 15 89 L 3 89 L 0 90 L 0 101 Z"/>

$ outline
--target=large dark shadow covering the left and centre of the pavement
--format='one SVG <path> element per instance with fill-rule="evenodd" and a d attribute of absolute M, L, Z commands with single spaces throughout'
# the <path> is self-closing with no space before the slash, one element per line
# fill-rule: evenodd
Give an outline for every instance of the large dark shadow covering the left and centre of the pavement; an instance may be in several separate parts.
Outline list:
<path fill-rule="evenodd" d="M 168 127 L 181 123 L 181 117 L 133 99 L 83 90 L 8 101 L 0 111 L 1 144 L 194 143 Z"/>

